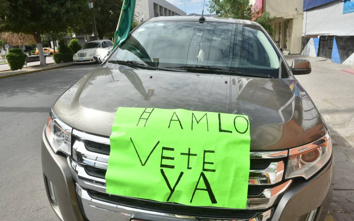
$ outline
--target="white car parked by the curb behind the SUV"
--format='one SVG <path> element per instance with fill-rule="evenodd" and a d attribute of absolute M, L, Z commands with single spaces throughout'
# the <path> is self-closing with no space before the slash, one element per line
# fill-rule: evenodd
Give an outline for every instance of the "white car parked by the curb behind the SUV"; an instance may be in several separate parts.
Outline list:
<path fill-rule="evenodd" d="M 85 43 L 81 50 L 74 54 L 74 63 L 95 63 L 96 60 L 93 58 L 97 48 L 112 49 L 113 42 L 107 39 L 96 40 Z"/>

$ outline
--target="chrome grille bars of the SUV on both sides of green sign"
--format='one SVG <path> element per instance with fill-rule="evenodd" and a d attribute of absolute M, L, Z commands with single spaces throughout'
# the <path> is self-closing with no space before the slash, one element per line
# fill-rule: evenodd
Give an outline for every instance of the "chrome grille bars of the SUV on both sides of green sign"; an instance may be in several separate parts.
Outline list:
<path fill-rule="evenodd" d="M 109 138 L 75 129 L 73 136 L 72 157 L 68 157 L 67 160 L 72 176 L 78 185 L 77 188 L 80 191 L 92 190 L 105 194 L 104 175 L 108 166 Z M 247 209 L 272 209 L 279 202 L 292 182 L 292 180 L 283 180 L 284 162 L 287 155 L 287 150 L 250 153 L 251 169 Z M 107 194 L 107 196 L 110 195 Z"/>

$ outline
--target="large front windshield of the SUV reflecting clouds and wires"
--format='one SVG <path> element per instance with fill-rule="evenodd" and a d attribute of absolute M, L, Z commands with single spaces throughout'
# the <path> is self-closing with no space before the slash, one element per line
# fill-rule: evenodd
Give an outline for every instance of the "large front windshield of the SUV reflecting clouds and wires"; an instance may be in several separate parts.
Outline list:
<path fill-rule="evenodd" d="M 286 71 L 260 27 L 216 22 L 145 22 L 109 60 L 158 68 L 208 66 L 274 78 Z"/>

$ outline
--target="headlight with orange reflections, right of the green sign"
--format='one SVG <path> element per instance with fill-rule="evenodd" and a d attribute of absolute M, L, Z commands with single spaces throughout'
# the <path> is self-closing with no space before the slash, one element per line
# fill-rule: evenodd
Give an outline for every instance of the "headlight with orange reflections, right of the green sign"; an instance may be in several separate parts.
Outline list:
<path fill-rule="evenodd" d="M 329 133 L 312 144 L 290 149 L 285 178 L 310 179 L 330 160 L 332 143 Z"/>

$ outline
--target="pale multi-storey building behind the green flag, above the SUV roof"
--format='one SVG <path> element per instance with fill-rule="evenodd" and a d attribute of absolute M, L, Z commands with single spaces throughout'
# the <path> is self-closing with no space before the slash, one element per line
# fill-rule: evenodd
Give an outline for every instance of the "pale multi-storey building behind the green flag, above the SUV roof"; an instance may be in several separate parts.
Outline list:
<path fill-rule="evenodd" d="M 138 22 L 159 16 L 187 15 L 187 13 L 165 0 L 137 0 L 134 13 Z"/>

